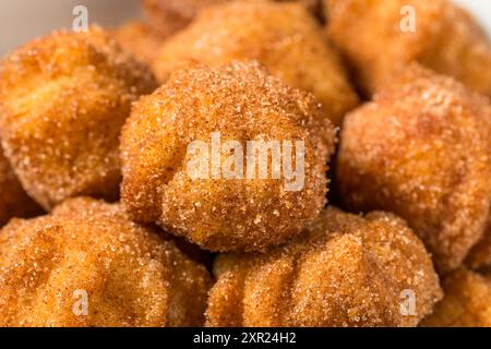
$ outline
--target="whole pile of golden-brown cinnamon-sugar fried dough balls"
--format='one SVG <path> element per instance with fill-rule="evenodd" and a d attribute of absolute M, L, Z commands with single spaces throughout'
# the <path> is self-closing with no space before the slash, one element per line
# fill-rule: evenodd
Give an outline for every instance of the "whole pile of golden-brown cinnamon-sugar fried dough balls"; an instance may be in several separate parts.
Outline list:
<path fill-rule="evenodd" d="M 467 12 L 143 5 L 1 62 L 0 326 L 491 326 L 491 44 Z M 217 133 L 301 142 L 303 185 L 192 176 Z"/>

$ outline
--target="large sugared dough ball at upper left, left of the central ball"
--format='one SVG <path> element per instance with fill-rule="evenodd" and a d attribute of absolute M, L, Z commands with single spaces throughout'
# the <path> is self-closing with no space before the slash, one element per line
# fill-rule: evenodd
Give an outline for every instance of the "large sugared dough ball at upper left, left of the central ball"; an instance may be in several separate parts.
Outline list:
<path fill-rule="evenodd" d="M 8 56 L 0 133 L 27 193 L 46 209 L 82 194 L 117 198 L 122 124 L 155 87 L 149 70 L 97 27 L 55 32 Z"/>

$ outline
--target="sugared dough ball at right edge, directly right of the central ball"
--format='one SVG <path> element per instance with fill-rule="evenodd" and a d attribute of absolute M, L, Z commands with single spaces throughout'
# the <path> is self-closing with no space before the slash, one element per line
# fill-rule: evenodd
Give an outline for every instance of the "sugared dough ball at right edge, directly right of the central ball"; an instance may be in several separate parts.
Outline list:
<path fill-rule="evenodd" d="M 487 229 L 491 107 L 453 79 L 414 72 L 346 117 L 336 183 L 350 210 L 406 219 L 447 272 Z"/>

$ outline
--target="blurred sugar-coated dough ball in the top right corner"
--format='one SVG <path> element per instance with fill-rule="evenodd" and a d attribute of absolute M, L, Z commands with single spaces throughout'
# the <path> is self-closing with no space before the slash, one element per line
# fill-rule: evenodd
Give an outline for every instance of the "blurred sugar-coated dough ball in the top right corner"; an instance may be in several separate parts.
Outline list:
<path fill-rule="evenodd" d="M 448 0 L 324 0 L 327 31 L 373 94 L 411 61 L 491 96 L 491 45 Z"/>

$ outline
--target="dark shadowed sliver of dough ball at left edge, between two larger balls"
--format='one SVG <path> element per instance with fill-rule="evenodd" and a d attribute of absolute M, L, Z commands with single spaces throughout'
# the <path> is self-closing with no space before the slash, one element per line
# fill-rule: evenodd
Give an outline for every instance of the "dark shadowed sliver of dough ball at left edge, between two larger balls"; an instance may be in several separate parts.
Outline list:
<path fill-rule="evenodd" d="M 0 227 L 13 217 L 31 217 L 41 212 L 27 196 L 0 149 Z"/>

